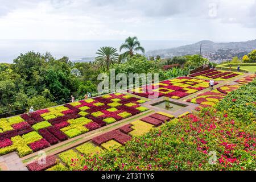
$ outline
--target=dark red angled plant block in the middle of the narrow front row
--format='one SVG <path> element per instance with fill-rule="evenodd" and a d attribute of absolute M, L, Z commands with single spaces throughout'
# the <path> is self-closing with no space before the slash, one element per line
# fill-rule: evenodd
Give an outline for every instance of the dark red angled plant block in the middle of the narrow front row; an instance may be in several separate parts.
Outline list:
<path fill-rule="evenodd" d="M 131 137 L 129 135 L 122 133 L 119 130 L 113 130 L 108 133 L 102 134 L 98 137 L 94 137 L 92 141 L 100 145 L 112 139 L 116 140 L 118 143 L 125 144 L 126 142 L 131 140 Z"/>

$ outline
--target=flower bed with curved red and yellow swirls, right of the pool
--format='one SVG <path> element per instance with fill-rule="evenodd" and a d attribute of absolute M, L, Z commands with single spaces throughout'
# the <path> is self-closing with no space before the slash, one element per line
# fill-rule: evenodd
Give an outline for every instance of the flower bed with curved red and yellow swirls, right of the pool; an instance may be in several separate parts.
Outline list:
<path fill-rule="evenodd" d="M 220 102 L 226 94 L 236 90 L 240 87 L 240 85 L 224 85 L 220 86 L 217 89 L 214 89 L 210 92 L 205 92 L 199 94 L 198 96 L 188 99 L 187 102 L 192 102 L 195 104 L 200 104 L 201 107 L 209 107 Z"/>

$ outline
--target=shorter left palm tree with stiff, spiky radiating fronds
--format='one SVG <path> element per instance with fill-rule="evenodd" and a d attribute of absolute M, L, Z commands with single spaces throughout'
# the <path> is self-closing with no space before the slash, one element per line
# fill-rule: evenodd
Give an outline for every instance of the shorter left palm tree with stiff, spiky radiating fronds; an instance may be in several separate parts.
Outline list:
<path fill-rule="evenodd" d="M 96 54 L 99 56 L 95 58 L 95 63 L 99 67 L 106 67 L 109 69 L 110 64 L 117 63 L 118 61 L 117 49 L 113 47 L 101 47 Z"/>

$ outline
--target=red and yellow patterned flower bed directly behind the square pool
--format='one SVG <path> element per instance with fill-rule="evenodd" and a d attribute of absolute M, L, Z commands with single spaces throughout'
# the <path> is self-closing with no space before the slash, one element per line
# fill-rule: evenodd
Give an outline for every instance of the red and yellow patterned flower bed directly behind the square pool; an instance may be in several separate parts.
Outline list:
<path fill-rule="evenodd" d="M 217 83 L 215 83 L 216 85 Z M 157 84 L 146 85 L 140 88 L 131 89 L 129 92 L 133 92 L 141 97 L 157 96 L 170 97 L 179 99 L 189 94 L 196 93 L 199 90 L 203 90 L 209 87 L 209 81 L 200 80 L 190 77 L 179 77 L 172 80 L 166 80 Z M 150 90 L 152 89 L 152 90 Z M 151 92 L 150 92 L 150 91 Z"/>

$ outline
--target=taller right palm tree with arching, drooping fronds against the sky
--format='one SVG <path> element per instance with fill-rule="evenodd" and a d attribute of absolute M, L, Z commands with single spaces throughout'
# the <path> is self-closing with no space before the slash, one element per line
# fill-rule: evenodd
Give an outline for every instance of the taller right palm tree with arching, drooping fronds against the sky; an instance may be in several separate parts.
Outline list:
<path fill-rule="evenodd" d="M 133 56 L 134 52 L 136 51 L 141 51 L 142 53 L 145 53 L 145 49 L 141 47 L 141 43 L 138 41 L 138 38 L 136 36 L 134 36 L 133 38 L 129 36 L 129 38 L 125 40 L 125 43 L 123 43 L 120 47 L 120 52 L 122 51 L 122 49 L 127 49 L 127 51 L 123 53 L 125 57 L 127 55 Z"/>

